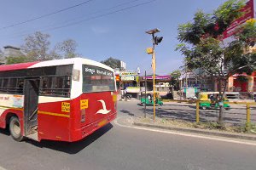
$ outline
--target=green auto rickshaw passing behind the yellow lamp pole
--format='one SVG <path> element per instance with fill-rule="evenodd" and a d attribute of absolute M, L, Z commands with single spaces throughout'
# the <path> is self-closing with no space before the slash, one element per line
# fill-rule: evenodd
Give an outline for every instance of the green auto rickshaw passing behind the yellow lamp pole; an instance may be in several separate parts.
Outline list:
<path fill-rule="evenodd" d="M 155 105 L 163 105 L 163 102 L 160 99 L 159 92 L 154 92 L 154 96 L 155 96 L 155 100 L 154 100 Z M 145 96 L 145 92 L 141 93 L 141 105 L 154 105 L 154 103 L 153 103 L 152 91 L 146 92 L 146 96 Z"/>

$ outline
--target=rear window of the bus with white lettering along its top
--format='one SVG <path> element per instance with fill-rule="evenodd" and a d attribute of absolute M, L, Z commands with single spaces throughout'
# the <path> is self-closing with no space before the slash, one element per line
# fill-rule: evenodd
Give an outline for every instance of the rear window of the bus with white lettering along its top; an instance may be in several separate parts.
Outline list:
<path fill-rule="evenodd" d="M 83 93 L 115 91 L 113 72 L 94 65 L 83 65 Z"/>

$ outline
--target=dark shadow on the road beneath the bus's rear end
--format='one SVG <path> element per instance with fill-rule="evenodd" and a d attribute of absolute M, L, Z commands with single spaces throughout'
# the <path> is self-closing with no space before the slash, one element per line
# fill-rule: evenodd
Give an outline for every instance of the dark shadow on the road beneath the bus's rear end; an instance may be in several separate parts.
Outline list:
<path fill-rule="evenodd" d="M 69 143 L 69 142 L 60 142 L 60 141 L 51 141 L 51 140 L 42 140 L 41 142 L 37 142 L 31 139 L 26 139 L 25 142 L 29 144 L 33 144 L 38 148 L 49 148 L 51 150 L 57 150 L 61 152 L 65 152 L 67 154 L 77 154 L 79 151 L 84 150 L 87 146 L 91 143 L 96 141 L 97 139 L 101 138 L 102 135 L 108 133 L 108 131 L 113 128 L 111 123 L 108 123 L 106 126 L 101 127 L 100 129 L 96 130 L 96 132 L 90 134 L 89 136 L 85 137 L 77 142 Z"/>

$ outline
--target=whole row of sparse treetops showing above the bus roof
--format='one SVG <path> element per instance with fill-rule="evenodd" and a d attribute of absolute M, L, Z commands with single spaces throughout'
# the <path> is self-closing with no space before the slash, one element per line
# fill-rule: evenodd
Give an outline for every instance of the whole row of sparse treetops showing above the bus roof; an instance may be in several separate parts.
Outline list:
<path fill-rule="evenodd" d="M 0 51 L 0 61 L 5 61 L 6 64 L 15 64 L 79 57 L 79 54 L 76 52 L 78 44 L 73 39 L 57 42 L 54 48 L 51 48 L 49 38 L 49 34 L 36 31 L 25 38 L 20 51 L 17 50 L 12 56 L 4 56 L 2 51 Z"/>

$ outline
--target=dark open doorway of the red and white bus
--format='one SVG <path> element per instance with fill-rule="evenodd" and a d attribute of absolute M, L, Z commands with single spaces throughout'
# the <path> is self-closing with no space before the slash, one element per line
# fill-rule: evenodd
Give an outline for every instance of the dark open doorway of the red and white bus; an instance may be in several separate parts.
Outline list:
<path fill-rule="evenodd" d="M 40 79 L 26 79 L 24 88 L 25 136 L 38 131 L 38 95 Z"/>

